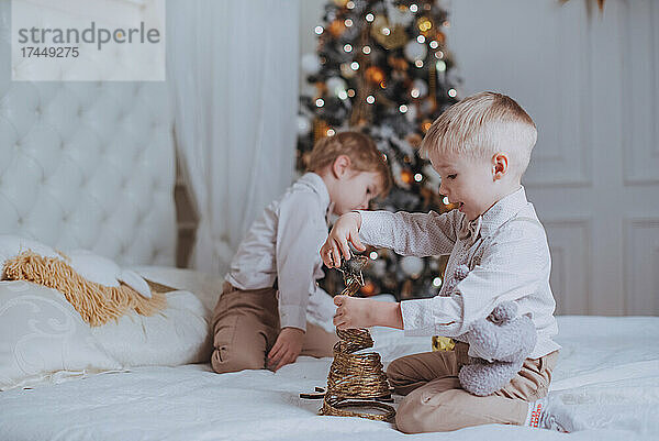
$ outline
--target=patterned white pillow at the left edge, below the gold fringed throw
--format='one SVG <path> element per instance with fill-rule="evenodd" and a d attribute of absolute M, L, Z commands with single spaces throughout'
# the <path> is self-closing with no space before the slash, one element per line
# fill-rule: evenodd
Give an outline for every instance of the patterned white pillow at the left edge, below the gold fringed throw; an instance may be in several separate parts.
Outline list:
<path fill-rule="evenodd" d="M 59 291 L 0 282 L 0 390 L 120 367 Z"/>

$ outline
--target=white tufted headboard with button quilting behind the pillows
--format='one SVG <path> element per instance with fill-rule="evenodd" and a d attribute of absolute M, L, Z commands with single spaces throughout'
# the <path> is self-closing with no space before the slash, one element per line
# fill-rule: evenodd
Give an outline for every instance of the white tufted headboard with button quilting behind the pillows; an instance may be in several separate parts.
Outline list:
<path fill-rule="evenodd" d="M 0 2 L 0 234 L 174 265 L 166 82 L 12 81 L 8 3 Z"/>

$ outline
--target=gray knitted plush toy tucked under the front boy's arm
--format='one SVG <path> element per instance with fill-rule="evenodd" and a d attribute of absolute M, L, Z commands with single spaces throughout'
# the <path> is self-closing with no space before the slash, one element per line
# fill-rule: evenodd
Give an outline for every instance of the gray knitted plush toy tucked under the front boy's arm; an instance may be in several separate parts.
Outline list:
<path fill-rule="evenodd" d="M 469 273 L 466 265 L 455 272 L 455 282 Z M 490 395 L 522 370 L 524 360 L 537 341 L 537 331 L 529 315 L 517 316 L 517 305 L 504 301 L 487 318 L 474 322 L 462 338 L 469 342 L 471 364 L 462 366 L 458 377 L 462 387 L 473 395 Z M 485 360 L 487 359 L 487 360 Z"/>

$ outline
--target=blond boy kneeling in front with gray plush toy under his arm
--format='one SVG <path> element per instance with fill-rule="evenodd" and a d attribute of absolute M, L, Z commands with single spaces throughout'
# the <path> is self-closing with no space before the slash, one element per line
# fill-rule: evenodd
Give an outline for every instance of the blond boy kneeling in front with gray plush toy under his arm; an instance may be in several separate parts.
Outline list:
<path fill-rule="evenodd" d="M 434 298 L 400 304 L 334 298 L 339 329 L 386 326 L 409 335 L 458 340 L 454 351 L 409 355 L 389 365 L 391 385 L 406 395 L 395 417 L 403 432 L 487 423 L 578 429 L 565 408 L 544 398 L 560 346 L 552 340 L 558 328 L 547 238 L 521 185 L 536 137 L 533 120 L 510 97 L 482 92 L 461 100 L 433 123 L 421 145 L 442 177 L 439 192 L 459 208 L 445 214 L 349 212 L 321 249 L 330 267 L 349 258 L 348 242 L 360 251 L 364 242 L 403 255 L 450 255 Z M 456 284 L 459 265 L 469 274 Z M 537 344 L 510 384 L 490 396 L 471 395 L 458 379 L 469 356 L 478 356 L 469 352 L 465 334 L 506 300 L 532 315 Z"/>

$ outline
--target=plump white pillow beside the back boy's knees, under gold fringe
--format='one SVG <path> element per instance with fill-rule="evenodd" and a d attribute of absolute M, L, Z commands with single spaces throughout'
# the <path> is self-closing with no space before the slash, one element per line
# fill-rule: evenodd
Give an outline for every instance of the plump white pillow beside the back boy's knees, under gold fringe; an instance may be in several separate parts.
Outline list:
<path fill-rule="evenodd" d="M 92 328 L 91 333 L 123 367 L 206 363 L 212 352 L 210 312 L 182 290 L 167 293 L 167 305 L 155 316 L 132 312 Z"/>

